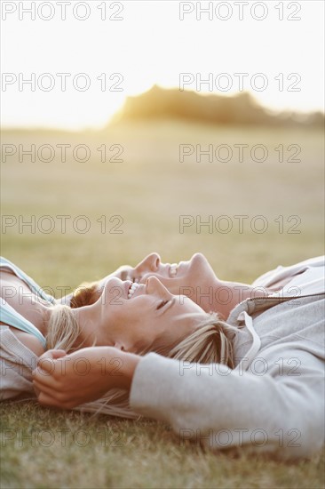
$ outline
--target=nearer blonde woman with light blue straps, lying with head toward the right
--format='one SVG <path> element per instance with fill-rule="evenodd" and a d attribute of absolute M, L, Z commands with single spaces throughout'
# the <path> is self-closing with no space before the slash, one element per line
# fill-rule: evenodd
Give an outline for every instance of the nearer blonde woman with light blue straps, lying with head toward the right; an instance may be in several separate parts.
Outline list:
<path fill-rule="evenodd" d="M 109 277 L 96 301 L 83 301 L 84 305 L 73 309 L 44 293 L 3 258 L 0 274 L 2 400 L 35 397 L 31 373 L 37 357 L 49 349 L 71 354 L 111 347 L 132 354 L 155 351 L 177 359 L 233 365 L 235 328 L 186 297 L 171 294 L 156 277 L 148 277 L 146 284 Z M 137 416 L 123 389 L 103 393 L 100 400 L 78 409 Z"/>

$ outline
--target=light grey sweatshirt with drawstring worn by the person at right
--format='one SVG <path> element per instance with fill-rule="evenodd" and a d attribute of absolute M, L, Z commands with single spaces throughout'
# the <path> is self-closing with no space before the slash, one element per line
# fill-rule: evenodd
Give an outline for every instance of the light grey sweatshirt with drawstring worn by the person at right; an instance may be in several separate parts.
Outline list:
<path fill-rule="evenodd" d="M 181 445 L 191 439 L 218 449 L 311 456 L 324 442 L 323 264 L 313 259 L 258 279 L 266 286 L 300 274 L 281 294 L 233 309 L 227 322 L 239 328 L 234 370 L 155 353 L 141 359 L 131 408 L 168 422 Z"/>

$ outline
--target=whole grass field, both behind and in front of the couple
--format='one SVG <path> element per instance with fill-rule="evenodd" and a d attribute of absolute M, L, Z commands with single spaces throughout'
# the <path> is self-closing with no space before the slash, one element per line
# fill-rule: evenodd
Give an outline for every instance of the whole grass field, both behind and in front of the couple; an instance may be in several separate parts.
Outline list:
<path fill-rule="evenodd" d="M 23 154 L 31 145 L 36 161 Z M 70 145 L 66 161 L 62 145 Z M 196 161 L 196 145 L 212 145 L 213 161 Z M 247 145 L 242 161 L 238 145 Z M 57 297 L 153 251 L 163 261 L 201 251 L 218 277 L 243 282 L 323 253 L 321 132 L 143 122 L 103 132 L 4 131 L 2 148 L 1 254 Z M 182 148 L 193 154 L 180 162 Z M 194 222 L 183 232 L 180 216 Z M 209 220 L 212 228 L 200 227 Z M 324 453 L 297 463 L 234 458 L 182 445 L 155 421 L 29 403 L 1 411 L 2 488 L 324 486 Z"/>

